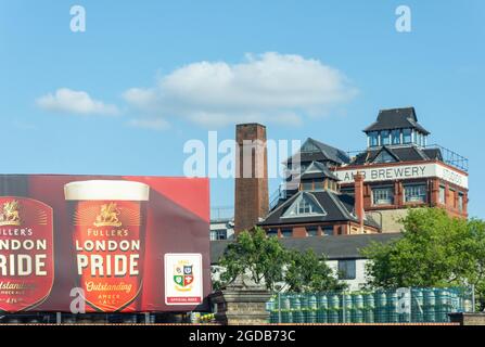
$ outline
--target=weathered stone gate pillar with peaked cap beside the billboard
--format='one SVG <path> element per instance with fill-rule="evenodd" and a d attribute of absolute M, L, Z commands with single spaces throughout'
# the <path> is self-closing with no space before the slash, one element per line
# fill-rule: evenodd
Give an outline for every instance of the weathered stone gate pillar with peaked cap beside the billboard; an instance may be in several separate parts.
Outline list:
<path fill-rule="evenodd" d="M 226 288 L 210 294 L 216 321 L 225 325 L 261 325 L 269 321 L 266 303 L 271 294 L 265 286 L 238 278 Z"/>

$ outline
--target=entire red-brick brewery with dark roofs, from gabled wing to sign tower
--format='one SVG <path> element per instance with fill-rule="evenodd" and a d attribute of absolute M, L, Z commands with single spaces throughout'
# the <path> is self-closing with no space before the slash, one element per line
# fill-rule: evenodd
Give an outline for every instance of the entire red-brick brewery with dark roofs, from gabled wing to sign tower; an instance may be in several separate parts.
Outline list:
<path fill-rule="evenodd" d="M 367 149 L 352 157 L 320 141 L 306 140 L 298 155 L 284 163 L 288 170 L 294 172 L 298 165 L 299 170 L 271 200 L 266 216 L 259 208 L 266 202 L 260 192 L 254 200 L 259 209 L 238 203 L 237 180 L 235 224 L 238 215 L 253 214 L 244 226 L 258 224 L 279 237 L 307 237 L 400 232 L 398 219 L 409 207 L 436 206 L 451 216 L 468 217 L 468 160 L 427 145 L 430 132 L 419 124 L 413 107 L 383 110 L 363 132 Z M 244 132 L 238 130 L 238 134 L 240 142 Z M 264 134 L 266 141 L 266 129 Z M 266 165 L 266 153 L 261 153 L 264 157 L 260 154 L 253 160 Z M 258 182 L 260 178 L 243 187 Z"/>

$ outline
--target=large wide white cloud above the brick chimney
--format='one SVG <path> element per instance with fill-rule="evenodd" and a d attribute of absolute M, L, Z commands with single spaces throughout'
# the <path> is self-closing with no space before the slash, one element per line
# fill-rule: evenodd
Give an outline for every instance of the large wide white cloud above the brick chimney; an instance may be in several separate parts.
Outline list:
<path fill-rule="evenodd" d="M 153 88 L 124 93 L 131 106 L 169 121 L 204 126 L 238 121 L 298 125 L 321 116 L 357 93 L 337 69 L 301 55 L 246 55 L 240 64 L 193 63 L 161 77 Z"/>

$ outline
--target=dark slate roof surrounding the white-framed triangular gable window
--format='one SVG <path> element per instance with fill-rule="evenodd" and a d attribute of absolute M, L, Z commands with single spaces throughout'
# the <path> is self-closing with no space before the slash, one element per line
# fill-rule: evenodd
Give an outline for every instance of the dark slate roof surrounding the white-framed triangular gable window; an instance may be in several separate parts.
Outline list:
<path fill-rule="evenodd" d="M 317 201 L 324 209 L 324 215 L 305 216 L 305 217 L 283 217 L 284 213 L 293 205 L 293 203 L 303 194 Z M 348 194 L 337 194 L 329 190 L 323 191 L 301 191 L 286 201 L 282 201 L 277 205 L 258 226 L 283 226 L 299 224 L 309 222 L 336 222 L 336 221 L 354 221 L 358 222 L 354 214 L 355 198 Z M 380 226 L 367 216 L 365 224 L 380 229 Z"/>

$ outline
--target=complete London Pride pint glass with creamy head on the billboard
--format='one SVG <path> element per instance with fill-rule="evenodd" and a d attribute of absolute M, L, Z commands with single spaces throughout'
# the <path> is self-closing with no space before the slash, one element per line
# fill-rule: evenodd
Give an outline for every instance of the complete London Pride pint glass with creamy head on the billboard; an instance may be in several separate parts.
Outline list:
<path fill-rule="evenodd" d="M 67 183 L 64 194 L 86 310 L 140 310 L 150 187 L 132 181 L 79 181 Z"/>

